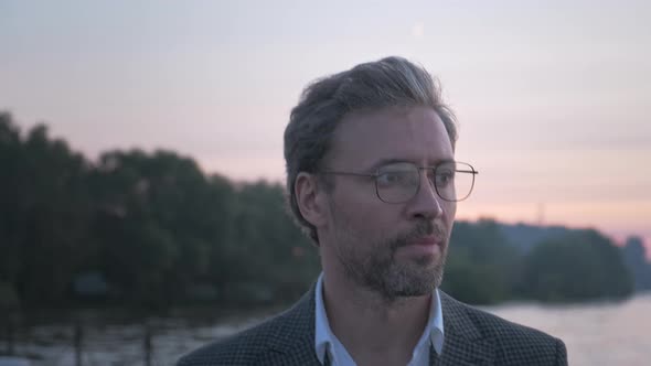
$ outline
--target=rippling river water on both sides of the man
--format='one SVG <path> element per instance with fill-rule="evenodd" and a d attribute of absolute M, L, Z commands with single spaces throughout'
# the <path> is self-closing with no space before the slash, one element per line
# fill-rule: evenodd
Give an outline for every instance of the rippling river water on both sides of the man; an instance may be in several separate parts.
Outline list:
<path fill-rule="evenodd" d="M 651 293 L 620 303 L 562 306 L 523 303 L 482 309 L 562 338 L 573 366 L 641 366 L 649 365 L 651 359 Z M 231 319 L 200 325 L 183 319 L 149 320 L 154 329 L 151 364 L 173 365 L 179 355 L 262 319 Z M 75 365 L 74 334 L 70 325 L 34 326 L 17 337 L 14 351 L 30 356 L 32 366 Z M 83 365 L 145 365 L 143 340 L 141 324 L 86 329 Z M 2 340 L 0 352 L 6 346 L 7 342 Z"/>

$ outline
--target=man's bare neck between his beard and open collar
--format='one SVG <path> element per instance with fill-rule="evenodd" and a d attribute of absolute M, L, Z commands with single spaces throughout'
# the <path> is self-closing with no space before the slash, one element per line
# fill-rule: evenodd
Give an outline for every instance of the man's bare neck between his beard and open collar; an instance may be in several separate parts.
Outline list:
<path fill-rule="evenodd" d="M 427 326 L 431 294 L 385 299 L 351 283 L 342 271 L 333 272 L 324 269 L 326 312 L 353 359 L 359 365 L 407 364 Z"/>

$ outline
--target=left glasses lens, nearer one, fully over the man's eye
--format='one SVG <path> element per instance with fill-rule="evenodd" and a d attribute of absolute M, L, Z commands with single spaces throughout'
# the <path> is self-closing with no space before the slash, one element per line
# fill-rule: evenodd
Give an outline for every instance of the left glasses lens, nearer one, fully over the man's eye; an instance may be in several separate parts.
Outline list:
<path fill-rule="evenodd" d="M 375 186 L 377 196 L 386 203 L 409 201 L 418 191 L 418 168 L 409 163 L 396 163 L 377 170 Z"/>

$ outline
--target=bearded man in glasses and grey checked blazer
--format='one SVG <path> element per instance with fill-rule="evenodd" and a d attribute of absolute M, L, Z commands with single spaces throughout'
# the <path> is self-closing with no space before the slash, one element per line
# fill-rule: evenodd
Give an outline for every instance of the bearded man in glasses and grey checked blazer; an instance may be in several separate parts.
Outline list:
<path fill-rule="evenodd" d="M 559 340 L 438 290 L 477 174 L 456 139 L 438 85 L 404 58 L 308 86 L 285 131 L 287 187 L 323 272 L 290 310 L 179 365 L 566 365 Z"/>

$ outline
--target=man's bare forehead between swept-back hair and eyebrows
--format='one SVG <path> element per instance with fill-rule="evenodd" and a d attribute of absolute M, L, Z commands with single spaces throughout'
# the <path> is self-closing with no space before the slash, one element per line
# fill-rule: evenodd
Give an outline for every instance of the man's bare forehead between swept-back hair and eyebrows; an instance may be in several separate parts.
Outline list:
<path fill-rule="evenodd" d="M 329 153 L 337 168 L 370 169 L 383 160 L 434 164 L 453 159 L 440 117 L 430 107 L 391 107 L 346 115 Z"/>

